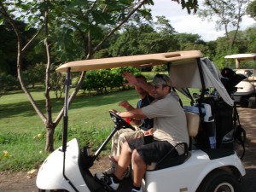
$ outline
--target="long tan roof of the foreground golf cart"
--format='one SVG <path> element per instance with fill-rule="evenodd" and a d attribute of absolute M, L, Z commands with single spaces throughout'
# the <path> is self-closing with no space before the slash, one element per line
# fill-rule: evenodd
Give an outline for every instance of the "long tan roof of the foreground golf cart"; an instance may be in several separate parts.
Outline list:
<path fill-rule="evenodd" d="M 56 72 L 66 73 L 68 68 L 70 68 L 71 72 L 81 72 L 114 67 L 154 66 L 161 65 L 167 62 L 183 64 L 188 63 L 189 61 L 195 62 L 196 58 L 201 57 L 202 54 L 199 50 L 176 51 L 148 55 L 120 56 L 103 59 L 67 62 L 66 64 L 58 67 L 56 69 Z"/>

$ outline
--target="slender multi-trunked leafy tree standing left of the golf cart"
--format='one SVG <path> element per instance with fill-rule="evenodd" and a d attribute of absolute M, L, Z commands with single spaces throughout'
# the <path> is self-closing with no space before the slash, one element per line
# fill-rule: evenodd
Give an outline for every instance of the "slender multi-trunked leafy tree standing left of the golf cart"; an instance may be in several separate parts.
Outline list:
<path fill-rule="evenodd" d="M 46 151 L 54 150 L 55 127 L 63 115 L 62 108 L 55 119 L 52 116 L 53 107 L 49 96 L 49 91 L 52 89 L 50 84 L 52 66 L 72 60 L 91 59 L 107 43 L 108 39 L 121 26 L 124 26 L 132 15 L 138 12 L 142 17 L 147 16 L 148 11 L 143 6 L 153 3 L 152 0 L 3 0 L 0 2 L 0 13 L 3 15 L 3 19 L 12 26 L 17 40 L 16 63 L 21 89 L 26 93 L 28 100 L 32 103 L 32 107 L 46 127 Z M 187 8 L 189 11 L 197 8 L 197 0 L 182 0 L 181 3 L 183 8 Z M 21 41 L 22 34 L 15 24 L 15 20 L 29 21 L 26 29 L 31 27 L 37 29 L 34 36 L 25 41 L 26 44 Z M 0 20 L 0 23 L 2 22 L 3 20 Z M 103 31 L 107 26 L 108 31 Z M 21 73 L 22 56 L 26 49 L 32 46 L 32 42 L 39 37 L 39 34 L 43 34 L 42 37 L 44 38 L 41 41 L 44 42 L 47 58 L 46 61 L 42 61 L 46 63 L 44 92 L 46 114 L 38 108 L 37 103 L 29 90 L 27 90 Z M 78 93 L 84 81 L 85 73 L 81 73 L 79 82 L 69 97 L 69 104 Z"/>

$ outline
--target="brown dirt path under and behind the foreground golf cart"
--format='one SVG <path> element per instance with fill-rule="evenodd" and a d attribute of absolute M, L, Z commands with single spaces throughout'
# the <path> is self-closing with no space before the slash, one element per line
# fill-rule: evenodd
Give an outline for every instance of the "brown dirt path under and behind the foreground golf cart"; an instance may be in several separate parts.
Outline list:
<path fill-rule="evenodd" d="M 247 131 L 246 154 L 242 160 L 246 168 L 243 177 L 245 192 L 256 192 L 256 109 L 238 108 L 241 125 Z M 108 167 L 108 157 L 104 156 L 91 167 L 92 173 L 102 172 Z M 0 192 L 36 192 L 37 172 L 0 172 Z"/>

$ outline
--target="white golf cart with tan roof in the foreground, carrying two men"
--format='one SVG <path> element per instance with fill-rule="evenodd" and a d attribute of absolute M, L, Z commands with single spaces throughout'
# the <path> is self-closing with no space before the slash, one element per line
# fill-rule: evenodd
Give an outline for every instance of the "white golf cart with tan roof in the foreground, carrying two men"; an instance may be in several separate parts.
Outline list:
<path fill-rule="evenodd" d="M 80 150 L 79 142 L 67 142 L 68 90 L 71 73 L 113 67 L 143 67 L 167 64 L 174 90 L 179 90 L 191 100 L 191 106 L 183 106 L 187 119 L 190 143 L 177 158 L 166 157 L 148 165 L 143 179 L 143 191 L 147 192 L 241 192 L 241 177 L 245 173 L 234 148 L 236 119 L 233 100 L 221 83 L 218 70 L 207 58 L 201 58 L 198 50 L 177 51 L 150 55 L 134 55 L 73 61 L 56 71 L 67 73 L 65 113 L 63 117 L 63 145 L 44 160 L 38 171 L 39 191 L 106 191 L 90 173 L 90 167 L 102 152 L 115 131 L 132 128 L 117 114 L 110 113 L 113 131 L 95 154 Z M 201 89 L 196 100 L 187 88 Z M 207 89 L 214 89 L 213 92 Z M 106 162 L 108 163 L 108 162 Z M 131 183 L 131 180 L 130 180 Z M 118 191 L 130 191 L 127 182 Z"/>

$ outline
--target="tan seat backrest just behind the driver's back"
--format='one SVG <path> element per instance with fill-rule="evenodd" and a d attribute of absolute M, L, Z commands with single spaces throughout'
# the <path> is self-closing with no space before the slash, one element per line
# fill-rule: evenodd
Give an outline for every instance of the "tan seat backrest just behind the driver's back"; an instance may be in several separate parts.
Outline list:
<path fill-rule="evenodd" d="M 185 112 L 189 137 L 196 137 L 199 131 L 200 116 L 197 113 Z"/>

